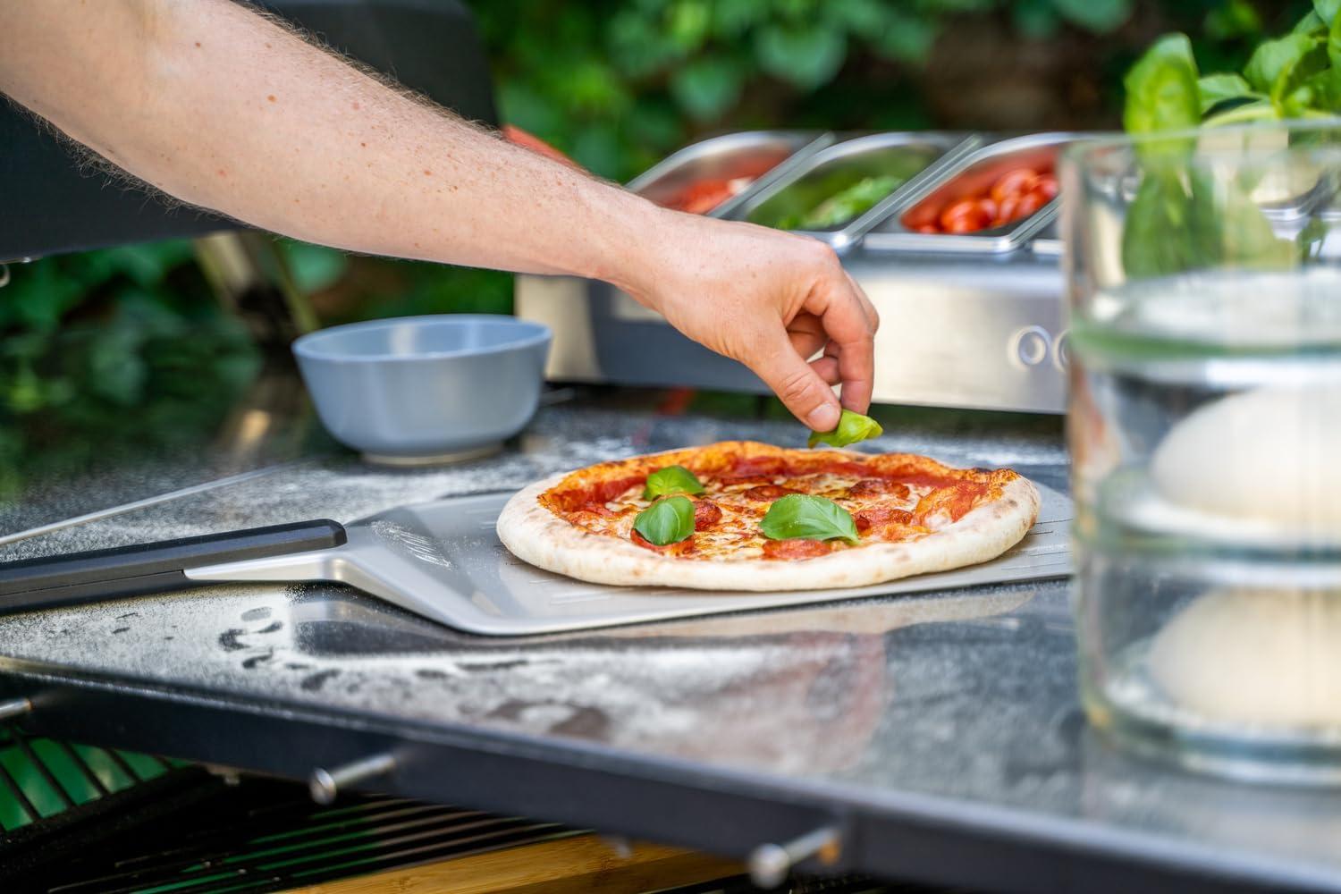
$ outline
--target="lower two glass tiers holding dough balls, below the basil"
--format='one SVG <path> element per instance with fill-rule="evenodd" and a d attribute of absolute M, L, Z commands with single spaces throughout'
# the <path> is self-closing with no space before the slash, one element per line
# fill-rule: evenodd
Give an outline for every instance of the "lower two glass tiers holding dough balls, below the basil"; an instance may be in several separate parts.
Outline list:
<path fill-rule="evenodd" d="M 1071 346 L 1090 717 L 1196 768 L 1341 781 L 1341 273 L 1129 284 Z"/>

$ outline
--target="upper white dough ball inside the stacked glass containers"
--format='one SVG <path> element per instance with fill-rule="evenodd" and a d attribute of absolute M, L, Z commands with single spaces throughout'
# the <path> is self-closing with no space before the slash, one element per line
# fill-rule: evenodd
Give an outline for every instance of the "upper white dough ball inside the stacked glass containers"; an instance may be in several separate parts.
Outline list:
<path fill-rule="evenodd" d="M 1263 387 L 1173 426 L 1151 461 L 1169 501 L 1215 515 L 1341 528 L 1341 383 Z"/>

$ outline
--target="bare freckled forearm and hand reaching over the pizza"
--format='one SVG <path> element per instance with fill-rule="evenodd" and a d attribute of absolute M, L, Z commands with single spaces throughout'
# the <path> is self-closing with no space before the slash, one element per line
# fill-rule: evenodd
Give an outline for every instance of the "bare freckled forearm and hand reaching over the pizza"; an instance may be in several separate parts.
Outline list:
<path fill-rule="evenodd" d="M 0 91 L 122 170 L 263 229 L 613 283 L 743 362 L 813 429 L 838 422 L 830 386 L 848 409 L 870 402 L 878 318 L 829 247 L 658 208 L 232 0 L 0 1 Z"/>

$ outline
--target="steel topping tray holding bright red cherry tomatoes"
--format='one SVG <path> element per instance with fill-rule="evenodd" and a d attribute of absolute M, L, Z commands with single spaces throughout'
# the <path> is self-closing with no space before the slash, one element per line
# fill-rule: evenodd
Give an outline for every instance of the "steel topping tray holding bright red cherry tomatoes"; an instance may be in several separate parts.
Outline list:
<path fill-rule="evenodd" d="M 1012 137 L 988 143 L 941 166 L 936 178 L 927 178 L 916 188 L 901 190 L 881 202 L 866 217 L 868 228 L 853 235 L 872 251 L 916 252 L 1010 252 L 1021 248 L 1043 231 L 1057 216 L 1059 197 L 1041 209 L 1010 224 L 975 233 L 919 233 L 908 229 L 902 218 L 923 202 L 949 202 L 960 194 L 976 193 L 1000 174 L 1021 166 L 1054 166 L 1062 146 L 1086 138 L 1085 134 L 1046 133 Z"/>

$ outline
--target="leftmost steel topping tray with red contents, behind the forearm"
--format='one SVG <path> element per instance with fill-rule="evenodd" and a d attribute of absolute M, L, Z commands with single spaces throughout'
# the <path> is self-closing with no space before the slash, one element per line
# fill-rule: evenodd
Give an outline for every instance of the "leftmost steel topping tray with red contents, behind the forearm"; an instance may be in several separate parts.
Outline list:
<path fill-rule="evenodd" d="M 833 141 L 834 135 L 829 133 L 799 130 L 751 130 L 711 137 L 685 146 L 653 165 L 634 177 L 628 188 L 658 205 L 665 205 L 699 181 L 747 177 L 758 169 L 760 157 L 775 158 L 743 192 L 705 213 L 708 217 L 721 217 L 730 214 L 752 193 L 786 178 Z"/>

